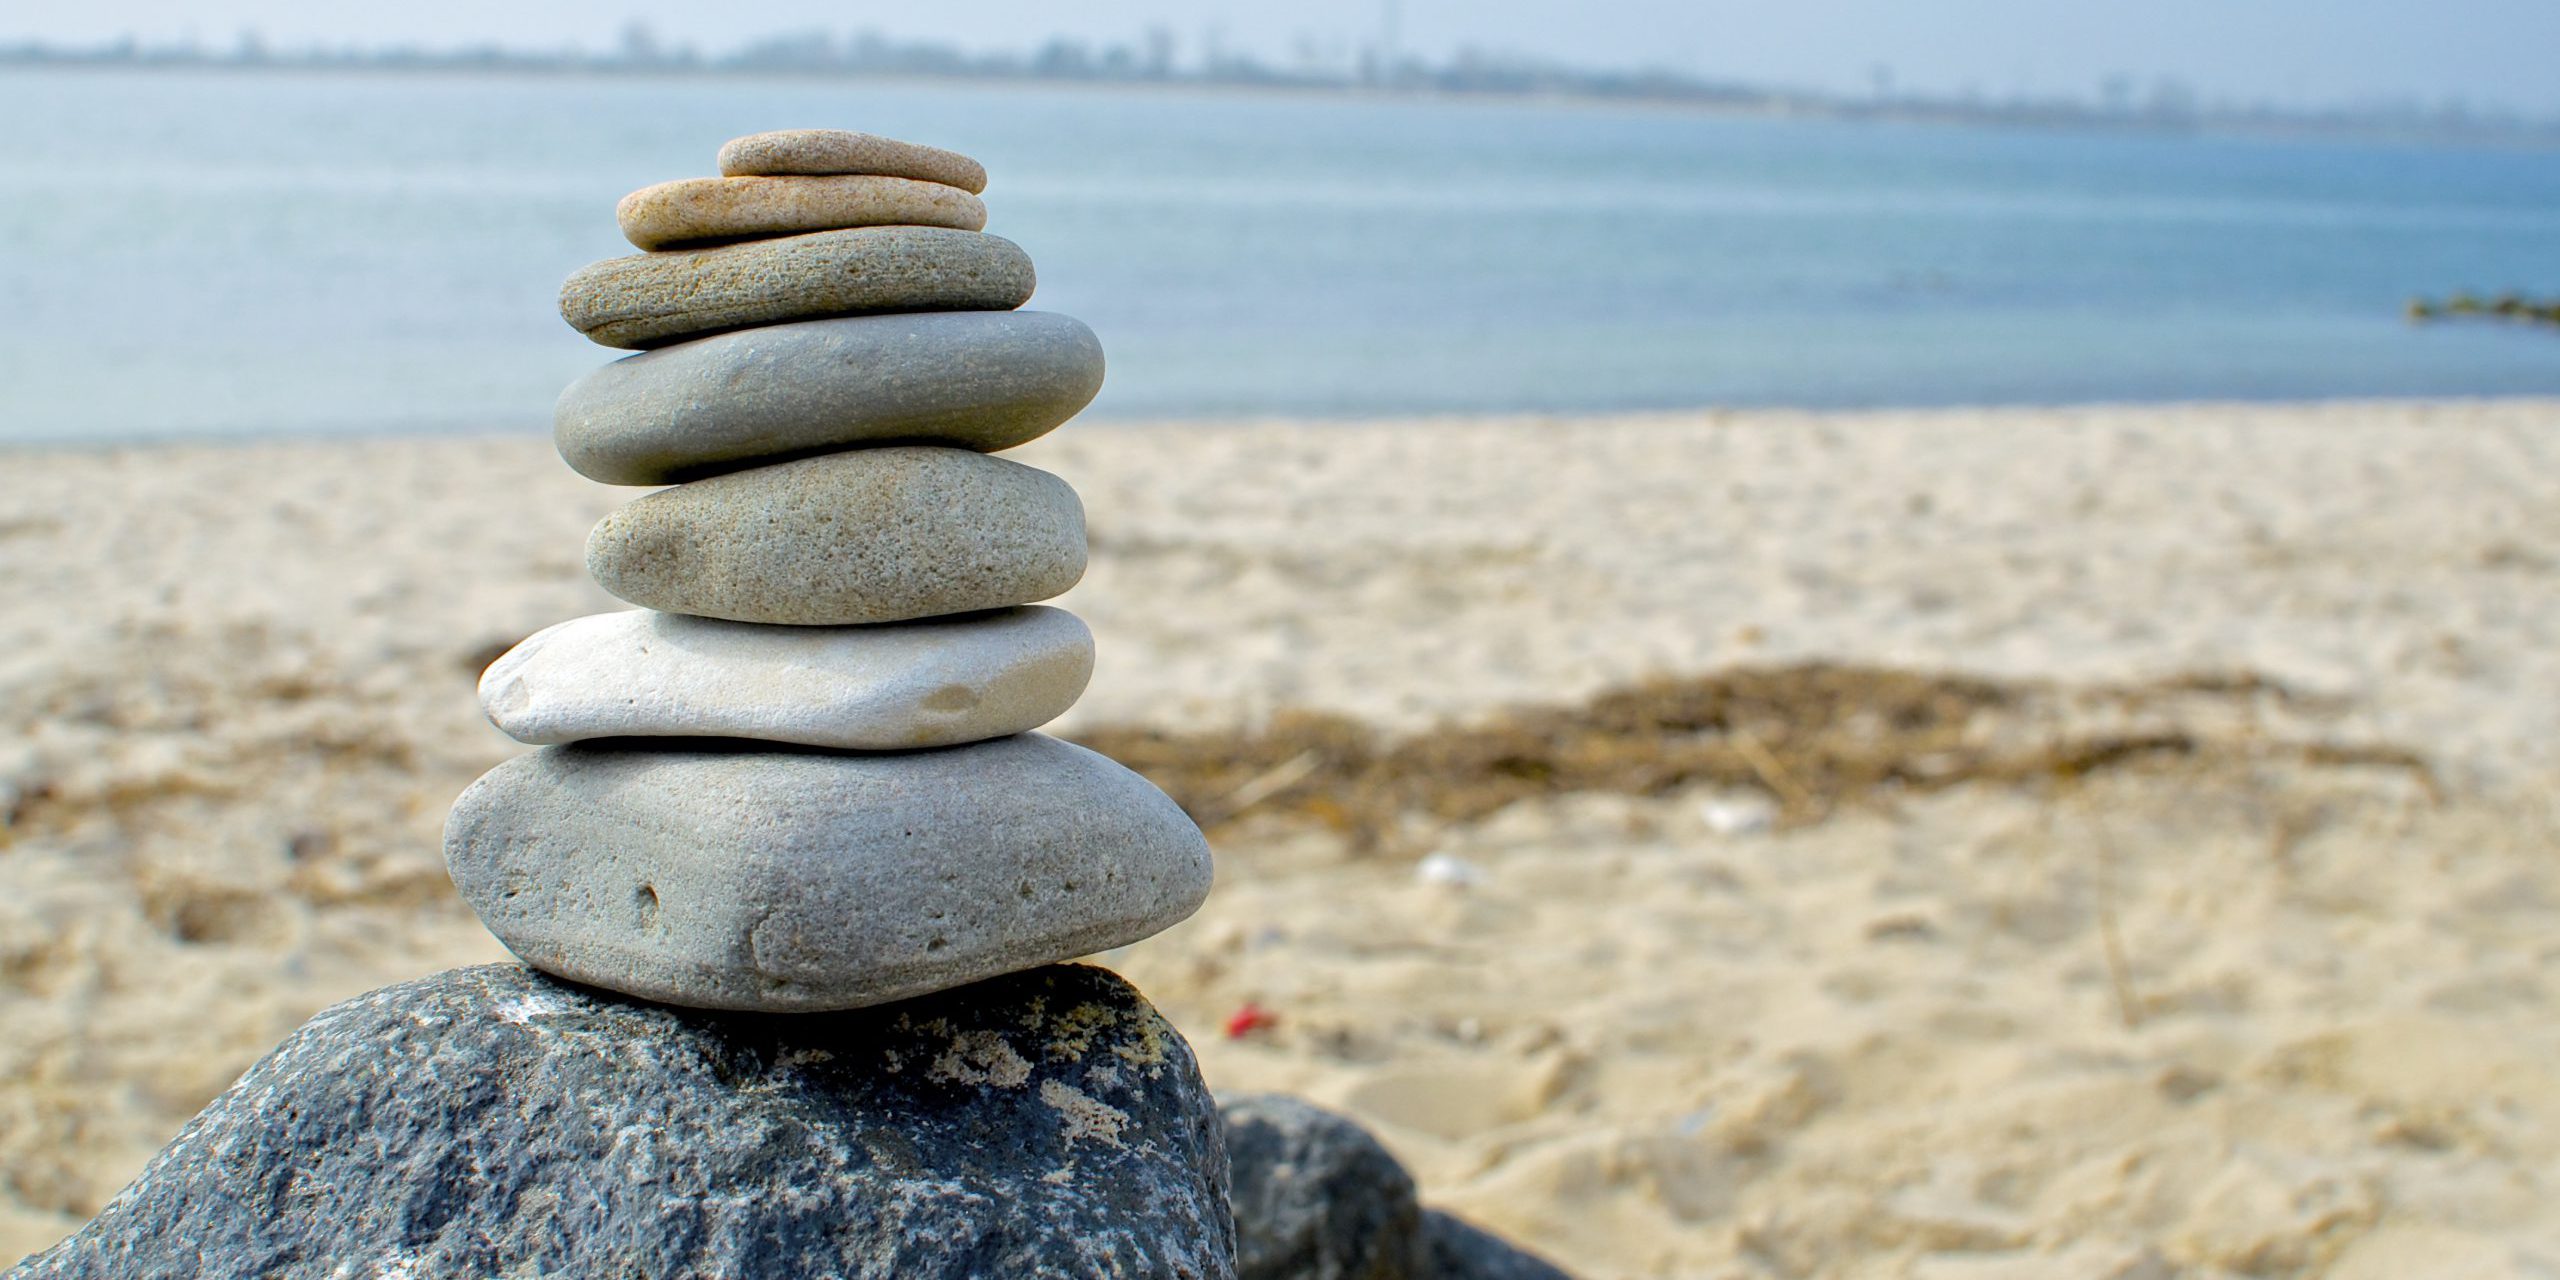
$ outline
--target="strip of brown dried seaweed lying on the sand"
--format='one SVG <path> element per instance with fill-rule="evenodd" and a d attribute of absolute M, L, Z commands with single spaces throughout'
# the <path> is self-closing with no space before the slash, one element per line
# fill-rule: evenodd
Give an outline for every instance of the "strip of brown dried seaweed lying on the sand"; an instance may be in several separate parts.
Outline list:
<path fill-rule="evenodd" d="M 2404 748 L 2268 732 L 2268 719 L 2330 709 L 2253 673 L 2061 686 L 1800 663 L 1654 678 L 1408 735 L 1283 712 L 1249 730 L 1073 737 L 1144 773 L 1211 832 L 1244 817 L 1303 819 L 1359 852 L 1390 850 L 1405 817 L 1472 822 L 1574 791 L 1756 788 L 1782 822 L 1805 824 L 1894 794 L 2266 760 L 2391 768 L 2435 788 L 2427 760 Z"/>

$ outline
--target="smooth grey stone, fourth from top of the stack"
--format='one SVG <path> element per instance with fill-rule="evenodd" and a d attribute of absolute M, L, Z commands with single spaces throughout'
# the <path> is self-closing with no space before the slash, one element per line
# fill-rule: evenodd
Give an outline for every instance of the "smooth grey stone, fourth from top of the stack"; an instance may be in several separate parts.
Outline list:
<path fill-rule="evenodd" d="M 763 325 L 612 361 L 561 394 L 561 458 L 676 484 L 876 443 L 993 453 L 1103 387 L 1103 346 L 1055 312 L 896 312 Z"/>

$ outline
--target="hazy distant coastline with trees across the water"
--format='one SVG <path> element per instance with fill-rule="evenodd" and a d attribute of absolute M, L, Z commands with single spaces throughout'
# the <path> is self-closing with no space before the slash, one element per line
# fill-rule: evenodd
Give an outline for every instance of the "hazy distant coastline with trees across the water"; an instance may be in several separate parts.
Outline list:
<path fill-rule="evenodd" d="M 310 46 L 266 49 L 243 36 L 230 49 L 195 41 L 146 44 L 136 38 L 97 46 L 0 44 L 0 67 L 146 69 L 146 72 L 479 72 L 479 74 L 589 74 L 589 77 L 714 77 L 714 79 L 945 79 L 1034 82 L 1185 90 L 1262 90 L 1362 97 L 1436 100 L 1549 100 L 1687 108 L 1736 115 L 1789 115 L 1830 120 L 1892 120 L 1930 125 L 2094 128 L 2122 133 L 2220 133 L 2281 138 L 2350 138 L 2470 146 L 2560 146 L 2560 118 L 2529 118 L 2468 105 L 2386 100 L 2335 108 L 2230 102 L 2196 95 L 2176 79 L 2135 84 L 2117 77 L 2092 97 L 2074 95 L 1940 95 L 1894 92 L 1838 95 L 1708 79 L 1664 69 L 1590 69 L 1500 54 L 1459 54 L 1446 61 L 1400 59 L 1364 51 L 1357 59 L 1275 67 L 1242 54 L 1211 54 L 1196 64 L 1172 59 L 1170 36 L 1144 46 L 1050 41 L 1021 54 L 973 54 L 927 41 L 878 33 L 835 38 L 786 33 L 727 54 L 660 46 L 645 28 L 625 28 L 614 51 L 507 49 L 494 44 L 425 46 Z"/>

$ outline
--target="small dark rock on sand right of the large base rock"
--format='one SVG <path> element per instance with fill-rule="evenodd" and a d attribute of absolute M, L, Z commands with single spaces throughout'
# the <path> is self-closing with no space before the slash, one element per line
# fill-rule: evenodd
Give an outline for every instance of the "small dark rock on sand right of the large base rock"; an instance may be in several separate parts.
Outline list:
<path fill-rule="evenodd" d="M 1242 1280 L 1569 1280 L 1413 1196 L 1413 1175 L 1347 1116 L 1300 1098 L 1219 1101 Z"/>

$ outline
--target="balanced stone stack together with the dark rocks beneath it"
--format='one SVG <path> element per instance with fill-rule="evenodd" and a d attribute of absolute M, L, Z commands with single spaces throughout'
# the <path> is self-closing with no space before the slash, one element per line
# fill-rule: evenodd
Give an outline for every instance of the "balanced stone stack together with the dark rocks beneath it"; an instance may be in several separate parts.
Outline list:
<path fill-rule="evenodd" d="M 991 453 L 1083 410 L 1101 346 L 1014 310 L 965 156 L 796 131 L 719 169 L 622 200 L 643 253 L 561 292 L 645 351 L 561 397 L 561 456 L 673 489 L 586 540 L 637 612 L 489 666 L 540 750 L 445 822 L 481 922 L 584 988 L 476 965 L 320 1011 L 8 1280 L 1564 1280 L 1339 1116 L 1221 1119 L 1137 991 L 1055 965 L 1208 893 L 1162 791 L 1032 732 L 1093 673 L 1032 604 L 1083 576 L 1083 507 Z"/>

